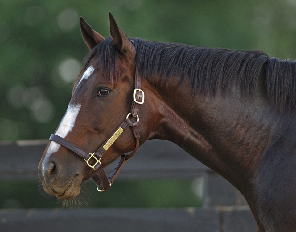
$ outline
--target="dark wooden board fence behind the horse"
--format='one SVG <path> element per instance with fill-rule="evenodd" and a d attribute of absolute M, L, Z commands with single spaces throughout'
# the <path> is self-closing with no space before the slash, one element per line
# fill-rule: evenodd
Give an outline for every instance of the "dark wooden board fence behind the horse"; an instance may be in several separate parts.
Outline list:
<path fill-rule="evenodd" d="M 37 178 L 47 141 L 0 144 L 0 179 Z M 110 173 L 113 166 L 106 168 Z M 244 197 L 230 183 L 167 141 L 143 144 L 118 179 L 202 178 L 203 208 L 2 209 L 0 231 L 257 231 Z"/>

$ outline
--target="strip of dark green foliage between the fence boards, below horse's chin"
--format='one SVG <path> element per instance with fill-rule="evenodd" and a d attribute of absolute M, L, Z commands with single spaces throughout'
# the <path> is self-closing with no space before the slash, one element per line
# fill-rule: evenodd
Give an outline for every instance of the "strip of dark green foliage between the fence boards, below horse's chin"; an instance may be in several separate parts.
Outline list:
<path fill-rule="evenodd" d="M 61 201 L 43 190 L 41 183 L 0 181 L 0 186 L 0 209 L 62 206 Z M 112 186 L 112 191 L 100 194 L 93 182 L 87 181 L 76 204 L 68 207 L 201 207 L 202 199 L 192 188 L 192 180 L 118 181 Z"/>

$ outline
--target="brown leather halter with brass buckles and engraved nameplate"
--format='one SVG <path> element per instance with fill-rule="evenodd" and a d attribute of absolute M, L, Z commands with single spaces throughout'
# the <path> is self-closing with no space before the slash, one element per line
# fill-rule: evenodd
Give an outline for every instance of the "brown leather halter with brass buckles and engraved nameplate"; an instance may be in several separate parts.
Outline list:
<path fill-rule="evenodd" d="M 126 116 L 126 119 L 119 125 L 119 127 L 117 127 L 117 129 L 113 132 L 113 134 L 110 135 L 109 138 L 105 140 L 105 142 L 101 145 L 101 147 L 94 153 L 88 153 L 84 151 L 82 148 L 77 147 L 75 144 L 72 144 L 71 142 L 65 140 L 64 138 L 58 135 L 51 134 L 49 138 L 49 140 L 54 141 L 64 146 L 65 148 L 68 148 L 70 151 L 84 158 L 87 165 L 90 168 L 96 170 L 96 172 L 92 175 L 92 180 L 97 184 L 98 186 L 97 189 L 99 192 L 108 191 L 110 189 L 111 184 L 113 183 L 114 179 L 117 177 L 118 173 L 120 172 L 125 162 L 128 161 L 129 158 L 132 157 L 138 151 L 139 144 L 140 144 L 140 127 L 138 124 L 139 122 L 138 112 L 140 109 L 140 105 L 144 103 L 144 99 L 145 99 L 144 92 L 141 90 L 141 77 L 139 77 L 138 75 L 135 75 L 135 89 L 134 89 L 133 98 L 134 98 L 134 101 L 131 107 L 131 111 L 130 111 L 131 113 L 129 113 Z M 130 120 L 130 115 L 132 115 L 134 118 L 137 118 L 137 120 L 132 122 Z M 110 174 L 109 178 L 107 178 L 100 160 L 104 155 L 104 153 L 108 150 L 108 148 L 119 137 L 119 135 L 121 135 L 121 133 L 130 126 L 132 127 L 132 131 L 136 139 L 135 149 L 131 154 L 121 155 L 118 165 Z M 95 161 L 93 165 L 89 163 L 89 161 L 92 159 Z"/>

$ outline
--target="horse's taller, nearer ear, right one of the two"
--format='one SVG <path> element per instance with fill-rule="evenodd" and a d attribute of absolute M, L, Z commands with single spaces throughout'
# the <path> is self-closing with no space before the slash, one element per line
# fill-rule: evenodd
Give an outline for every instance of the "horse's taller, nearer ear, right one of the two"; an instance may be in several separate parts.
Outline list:
<path fill-rule="evenodd" d="M 118 27 L 111 12 L 109 12 L 109 23 L 110 23 L 110 34 L 118 50 L 121 53 L 128 53 L 130 51 L 134 51 L 135 50 L 134 45 L 132 45 L 129 38 Z"/>

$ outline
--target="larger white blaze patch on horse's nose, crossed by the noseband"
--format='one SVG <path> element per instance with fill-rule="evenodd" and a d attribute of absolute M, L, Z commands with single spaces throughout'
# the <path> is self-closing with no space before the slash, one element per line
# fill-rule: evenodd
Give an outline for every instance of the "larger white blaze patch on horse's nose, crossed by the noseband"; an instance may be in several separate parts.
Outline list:
<path fill-rule="evenodd" d="M 59 135 L 62 138 L 65 138 L 68 135 L 68 133 L 72 130 L 72 128 L 75 125 L 75 121 L 80 111 L 80 107 L 81 107 L 80 104 L 76 104 L 76 105 L 69 104 L 66 114 L 64 115 L 62 121 L 60 122 L 60 126 L 55 132 L 56 135 Z M 57 152 L 60 146 L 61 146 L 60 144 L 54 141 L 51 141 L 47 149 L 46 155 Z"/>

